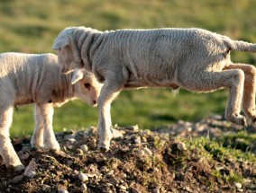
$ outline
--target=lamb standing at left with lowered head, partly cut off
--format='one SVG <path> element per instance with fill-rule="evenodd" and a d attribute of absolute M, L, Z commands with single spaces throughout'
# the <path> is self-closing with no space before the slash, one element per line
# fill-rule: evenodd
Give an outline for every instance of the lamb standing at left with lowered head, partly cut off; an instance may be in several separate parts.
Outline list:
<path fill-rule="evenodd" d="M 14 106 L 35 103 L 31 144 L 58 151 L 52 128 L 53 107 L 77 98 L 96 106 L 100 89 L 101 83 L 86 70 L 63 75 L 56 55 L 0 54 L 0 155 L 5 164 L 15 171 L 24 169 L 9 138 Z"/>

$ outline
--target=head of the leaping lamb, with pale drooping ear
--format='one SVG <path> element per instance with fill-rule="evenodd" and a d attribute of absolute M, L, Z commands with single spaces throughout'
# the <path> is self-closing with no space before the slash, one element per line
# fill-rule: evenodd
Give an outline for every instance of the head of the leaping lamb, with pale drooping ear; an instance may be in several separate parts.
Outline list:
<path fill-rule="evenodd" d="M 84 66 L 74 37 L 75 31 L 79 29 L 83 29 L 83 27 L 70 27 L 60 31 L 52 46 L 53 49 L 57 50 L 58 63 L 64 74 Z"/>

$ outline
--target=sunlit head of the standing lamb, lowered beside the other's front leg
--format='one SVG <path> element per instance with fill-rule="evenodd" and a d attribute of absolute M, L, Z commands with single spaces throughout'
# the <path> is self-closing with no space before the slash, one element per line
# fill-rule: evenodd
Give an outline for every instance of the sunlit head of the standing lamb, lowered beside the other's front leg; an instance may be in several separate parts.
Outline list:
<path fill-rule="evenodd" d="M 102 83 L 98 83 L 95 75 L 85 69 L 76 69 L 72 72 L 72 84 L 75 84 L 75 96 L 96 107 Z"/>

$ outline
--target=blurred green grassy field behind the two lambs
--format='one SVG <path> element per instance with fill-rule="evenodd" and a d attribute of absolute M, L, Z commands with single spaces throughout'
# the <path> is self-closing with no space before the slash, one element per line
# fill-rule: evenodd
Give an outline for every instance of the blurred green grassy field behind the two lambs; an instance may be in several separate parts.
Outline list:
<path fill-rule="evenodd" d="M 198 27 L 256 42 L 253 0 L 0 0 L 0 52 L 53 52 L 59 31 L 68 26 L 97 30 Z M 233 53 L 233 62 L 256 63 L 255 54 Z M 112 105 L 113 123 L 159 127 L 178 119 L 197 120 L 224 113 L 227 91 L 195 94 L 168 89 L 122 92 Z M 31 134 L 32 105 L 14 111 L 12 136 Z M 96 126 L 96 109 L 70 101 L 55 110 L 55 131 Z"/>

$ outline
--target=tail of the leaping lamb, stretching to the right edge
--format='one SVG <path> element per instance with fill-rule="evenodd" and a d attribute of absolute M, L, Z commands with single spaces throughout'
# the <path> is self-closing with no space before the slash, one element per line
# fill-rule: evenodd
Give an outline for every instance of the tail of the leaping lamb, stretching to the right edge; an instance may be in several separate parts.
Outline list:
<path fill-rule="evenodd" d="M 256 44 L 252 44 L 241 40 L 232 40 L 227 37 L 222 37 L 224 45 L 233 51 L 256 52 Z"/>

